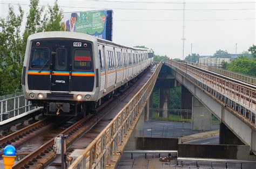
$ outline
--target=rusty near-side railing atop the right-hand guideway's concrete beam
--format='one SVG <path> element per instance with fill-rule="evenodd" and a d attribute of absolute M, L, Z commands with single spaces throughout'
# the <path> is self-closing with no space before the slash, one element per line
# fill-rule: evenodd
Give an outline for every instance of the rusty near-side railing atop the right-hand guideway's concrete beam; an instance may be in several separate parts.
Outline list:
<path fill-rule="evenodd" d="M 256 89 L 240 85 L 223 78 L 216 77 L 196 68 L 180 64 L 174 60 L 165 60 L 173 66 L 177 72 L 184 75 L 193 83 L 223 102 L 227 107 L 238 111 L 239 114 L 249 119 L 254 125 L 256 123 Z"/>

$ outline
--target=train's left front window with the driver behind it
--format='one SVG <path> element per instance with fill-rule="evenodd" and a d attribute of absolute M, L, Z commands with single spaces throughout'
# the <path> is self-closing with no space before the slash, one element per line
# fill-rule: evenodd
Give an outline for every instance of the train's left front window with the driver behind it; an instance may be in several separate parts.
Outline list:
<path fill-rule="evenodd" d="M 48 48 L 33 48 L 31 54 L 31 68 L 48 68 L 49 50 Z"/>

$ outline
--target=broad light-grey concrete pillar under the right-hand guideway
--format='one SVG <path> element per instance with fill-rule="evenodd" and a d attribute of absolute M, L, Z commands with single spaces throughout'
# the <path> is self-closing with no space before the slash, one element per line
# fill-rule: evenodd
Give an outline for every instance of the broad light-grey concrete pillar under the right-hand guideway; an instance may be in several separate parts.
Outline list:
<path fill-rule="evenodd" d="M 212 113 L 196 97 L 192 97 L 192 130 L 211 130 Z"/>

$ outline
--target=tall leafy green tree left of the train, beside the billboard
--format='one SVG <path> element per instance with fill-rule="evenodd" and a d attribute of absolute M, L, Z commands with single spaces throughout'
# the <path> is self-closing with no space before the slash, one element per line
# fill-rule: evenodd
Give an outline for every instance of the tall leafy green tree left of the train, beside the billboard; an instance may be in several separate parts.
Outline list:
<path fill-rule="evenodd" d="M 30 0 L 30 11 L 21 33 L 24 11 L 19 5 L 19 14 L 15 15 L 9 6 L 9 15 L 0 19 L 0 95 L 16 93 L 21 90 L 21 75 L 25 55 L 26 42 L 30 34 L 42 31 L 59 31 L 62 11 L 57 0 L 42 17 L 44 8 L 38 7 L 39 0 Z M 50 17 L 50 18 L 48 18 Z M 2 43 L 3 42 L 3 43 Z"/>

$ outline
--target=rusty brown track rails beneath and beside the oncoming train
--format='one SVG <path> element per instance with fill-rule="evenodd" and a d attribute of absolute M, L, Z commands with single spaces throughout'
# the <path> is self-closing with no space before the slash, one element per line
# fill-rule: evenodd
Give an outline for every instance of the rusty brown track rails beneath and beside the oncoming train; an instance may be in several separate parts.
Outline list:
<path fill-rule="evenodd" d="M 146 76 L 146 79 L 147 78 L 149 78 L 149 76 Z M 69 126 L 69 128 L 58 133 L 58 135 L 56 135 L 55 137 L 61 134 L 66 135 L 67 146 L 72 145 L 74 142 L 76 142 L 76 140 L 82 137 L 84 133 L 90 131 L 93 126 L 95 126 L 102 118 L 104 118 L 111 110 L 113 110 L 127 95 L 129 95 L 131 92 L 134 92 L 133 89 L 135 87 L 137 87 L 136 90 L 139 90 L 138 83 L 142 82 L 143 79 L 145 78 L 140 78 L 132 86 L 127 87 L 125 90 L 122 90 L 123 93 L 120 94 L 118 97 L 116 95 L 116 98 L 113 98 L 109 102 L 103 104 L 105 108 L 99 107 L 96 110 L 96 114 L 90 114 L 86 116 L 86 118 L 83 118 L 75 124 Z M 68 119 L 66 119 L 66 121 L 68 121 Z M 53 124 L 49 122 L 49 119 L 43 119 L 42 121 L 33 123 L 29 126 L 26 126 L 24 129 L 18 130 L 6 137 L 3 137 L 0 140 L 0 143 L 2 143 L 2 148 L 8 144 L 12 144 L 16 148 L 18 148 L 21 147 L 25 142 L 28 142 L 28 140 L 38 136 L 39 133 L 51 132 L 52 128 Z M 35 151 L 30 153 L 24 153 L 26 156 L 20 161 L 17 161 L 13 168 L 44 168 L 45 166 L 49 165 L 56 157 L 54 148 L 52 146 L 54 144 L 55 137 L 52 137 L 52 139 L 43 143 Z"/>

